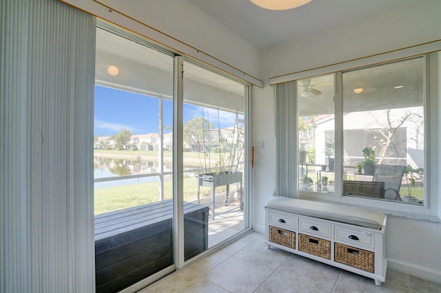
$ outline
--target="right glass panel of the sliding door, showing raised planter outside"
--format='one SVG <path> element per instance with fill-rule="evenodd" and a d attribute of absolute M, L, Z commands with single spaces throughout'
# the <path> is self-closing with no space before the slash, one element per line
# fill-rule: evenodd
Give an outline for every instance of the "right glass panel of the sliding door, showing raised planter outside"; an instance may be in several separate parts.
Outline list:
<path fill-rule="evenodd" d="M 247 228 L 245 89 L 184 63 L 185 261 Z"/>

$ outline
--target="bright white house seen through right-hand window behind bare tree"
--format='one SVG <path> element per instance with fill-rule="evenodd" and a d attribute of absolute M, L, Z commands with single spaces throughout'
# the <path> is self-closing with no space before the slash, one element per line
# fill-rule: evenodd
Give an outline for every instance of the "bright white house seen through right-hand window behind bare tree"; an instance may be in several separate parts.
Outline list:
<path fill-rule="evenodd" d="M 384 144 L 384 137 L 380 131 L 387 128 L 387 120 L 399 120 L 405 113 L 419 113 L 421 107 L 407 107 L 394 109 L 389 117 L 384 110 L 362 112 L 351 112 L 343 116 L 345 125 L 345 142 L 343 142 L 344 166 L 356 166 L 363 159 L 362 149 L 365 146 L 373 147 L 376 150 L 377 160 L 380 149 Z M 300 141 L 315 146 L 316 164 L 327 164 L 326 143 L 334 142 L 334 116 L 321 115 L 307 121 L 314 129 L 311 140 L 307 140 L 305 133 L 300 134 Z M 314 127 L 312 127 L 314 126 Z M 392 146 L 384 158 L 386 164 L 411 164 L 414 168 L 424 166 L 424 126 L 409 119 L 404 121 L 392 139 Z M 349 143 L 350 142 L 350 143 Z M 373 144 L 371 142 L 374 142 Z"/>

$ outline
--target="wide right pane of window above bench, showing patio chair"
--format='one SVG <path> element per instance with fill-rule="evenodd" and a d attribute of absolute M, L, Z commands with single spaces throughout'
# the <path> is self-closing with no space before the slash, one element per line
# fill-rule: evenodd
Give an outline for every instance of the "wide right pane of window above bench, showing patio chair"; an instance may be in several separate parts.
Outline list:
<path fill-rule="evenodd" d="M 420 57 L 342 74 L 343 195 L 422 204 L 423 70 Z"/>

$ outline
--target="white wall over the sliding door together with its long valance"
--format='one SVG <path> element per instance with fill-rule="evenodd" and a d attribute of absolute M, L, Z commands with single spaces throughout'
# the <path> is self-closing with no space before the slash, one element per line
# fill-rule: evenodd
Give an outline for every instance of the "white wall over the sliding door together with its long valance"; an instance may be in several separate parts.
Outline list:
<path fill-rule="evenodd" d="M 250 82 L 260 83 L 256 80 L 259 75 L 258 51 L 187 0 L 60 1 L 198 60 L 211 60 L 216 67 L 227 68 L 236 76 L 245 79 L 246 75 L 252 76 L 248 79 L 253 80 Z M 213 58 L 206 58 L 205 54 Z"/>

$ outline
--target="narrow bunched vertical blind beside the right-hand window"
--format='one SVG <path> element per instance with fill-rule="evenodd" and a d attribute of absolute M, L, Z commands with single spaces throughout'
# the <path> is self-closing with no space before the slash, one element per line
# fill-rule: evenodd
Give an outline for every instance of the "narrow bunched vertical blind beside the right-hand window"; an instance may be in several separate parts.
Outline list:
<path fill-rule="evenodd" d="M 274 87 L 276 100 L 276 149 L 278 196 L 297 197 L 296 82 Z"/>

